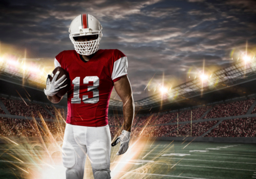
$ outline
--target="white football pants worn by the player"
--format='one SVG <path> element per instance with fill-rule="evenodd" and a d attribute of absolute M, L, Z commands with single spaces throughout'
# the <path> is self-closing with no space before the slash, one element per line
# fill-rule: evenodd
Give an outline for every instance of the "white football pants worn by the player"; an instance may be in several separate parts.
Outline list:
<path fill-rule="evenodd" d="M 111 136 L 109 125 L 86 127 L 67 124 L 62 145 L 67 179 L 83 179 L 86 155 L 95 179 L 110 179 Z"/>

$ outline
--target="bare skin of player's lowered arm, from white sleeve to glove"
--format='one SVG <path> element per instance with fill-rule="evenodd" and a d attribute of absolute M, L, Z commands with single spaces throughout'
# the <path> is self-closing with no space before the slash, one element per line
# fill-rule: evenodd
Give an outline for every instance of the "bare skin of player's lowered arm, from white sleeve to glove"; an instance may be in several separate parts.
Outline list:
<path fill-rule="evenodd" d="M 124 130 L 131 132 L 134 118 L 134 100 L 130 81 L 127 75 L 114 82 L 116 93 L 123 102 Z"/>

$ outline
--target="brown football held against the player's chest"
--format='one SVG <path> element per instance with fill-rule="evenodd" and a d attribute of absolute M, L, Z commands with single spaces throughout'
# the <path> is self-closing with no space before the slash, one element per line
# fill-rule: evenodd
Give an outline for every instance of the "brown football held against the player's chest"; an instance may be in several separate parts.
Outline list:
<path fill-rule="evenodd" d="M 58 91 L 58 93 L 56 94 L 58 97 L 62 97 L 62 96 L 64 96 L 64 95 L 68 92 L 68 89 L 69 89 L 69 86 L 70 86 L 70 79 L 69 79 L 69 73 L 68 73 L 66 70 L 62 69 L 60 66 L 58 66 L 57 68 L 55 68 L 55 69 L 53 70 L 53 72 L 52 72 L 52 74 L 51 74 L 51 77 L 50 77 L 50 81 L 52 81 L 53 76 L 54 76 L 54 75 L 56 74 L 56 72 L 58 72 L 58 71 L 59 71 L 59 75 L 58 75 L 58 77 L 56 78 L 56 81 L 57 81 L 60 77 L 62 77 L 63 75 L 66 75 L 67 80 L 65 81 L 65 83 L 64 83 L 63 85 L 68 84 L 66 87 L 61 88 L 61 89 Z"/>

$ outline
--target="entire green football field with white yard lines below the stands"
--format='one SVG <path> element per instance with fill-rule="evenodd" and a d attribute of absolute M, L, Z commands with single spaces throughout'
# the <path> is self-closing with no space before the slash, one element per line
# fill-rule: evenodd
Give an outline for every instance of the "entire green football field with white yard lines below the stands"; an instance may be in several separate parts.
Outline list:
<path fill-rule="evenodd" d="M 13 160 L 19 158 L 19 152 L 10 156 L 4 153 L 6 146 L 1 147 L 0 178 L 20 178 L 14 173 L 22 170 L 11 165 L 23 168 L 22 162 Z M 130 165 L 126 170 L 115 168 L 115 172 L 126 174 L 123 178 L 256 178 L 255 144 L 156 141 L 130 147 L 125 159 L 115 156 L 113 160 L 112 156 L 112 165 Z M 117 149 L 112 148 L 112 155 Z M 135 158 L 130 160 L 129 155 Z"/>

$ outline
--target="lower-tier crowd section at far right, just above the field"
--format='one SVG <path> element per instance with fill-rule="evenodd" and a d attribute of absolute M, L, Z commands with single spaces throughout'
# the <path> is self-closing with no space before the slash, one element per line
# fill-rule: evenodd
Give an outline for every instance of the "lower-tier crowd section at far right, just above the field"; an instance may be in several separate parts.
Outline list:
<path fill-rule="evenodd" d="M 205 137 L 256 137 L 256 118 L 224 120 Z"/>

